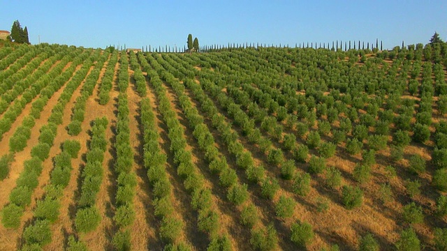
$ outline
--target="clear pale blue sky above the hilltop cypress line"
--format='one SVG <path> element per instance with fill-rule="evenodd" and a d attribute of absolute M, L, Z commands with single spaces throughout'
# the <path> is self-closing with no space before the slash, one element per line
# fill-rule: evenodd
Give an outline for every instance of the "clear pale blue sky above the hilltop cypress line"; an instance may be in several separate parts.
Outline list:
<path fill-rule="evenodd" d="M 27 26 L 32 44 L 84 47 L 331 43 L 383 40 L 384 48 L 447 38 L 446 0 L 116 1 L 0 0 L 0 29 Z"/>

